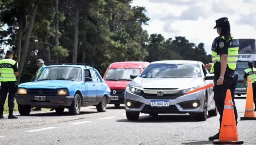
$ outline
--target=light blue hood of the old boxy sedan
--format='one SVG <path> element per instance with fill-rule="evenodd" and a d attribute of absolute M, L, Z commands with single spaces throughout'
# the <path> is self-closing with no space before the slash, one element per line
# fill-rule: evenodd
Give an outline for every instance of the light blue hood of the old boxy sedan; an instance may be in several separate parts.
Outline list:
<path fill-rule="evenodd" d="M 45 80 L 45 81 L 33 81 L 25 82 L 19 85 L 19 87 L 68 87 L 76 82 L 70 80 Z"/>

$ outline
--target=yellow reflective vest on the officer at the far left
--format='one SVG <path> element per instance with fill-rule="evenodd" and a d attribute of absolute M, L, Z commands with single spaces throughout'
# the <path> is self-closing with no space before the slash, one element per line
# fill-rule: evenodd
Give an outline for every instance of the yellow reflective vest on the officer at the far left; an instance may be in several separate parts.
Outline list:
<path fill-rule="evenodd" d="M 16 76 L 14 75 L 13 67 L 18 62 L 13 59 L 2 59 L 0 60 L 0 73 L 1 73 L 1 82 L 6 81 L 17 81 Z"/>

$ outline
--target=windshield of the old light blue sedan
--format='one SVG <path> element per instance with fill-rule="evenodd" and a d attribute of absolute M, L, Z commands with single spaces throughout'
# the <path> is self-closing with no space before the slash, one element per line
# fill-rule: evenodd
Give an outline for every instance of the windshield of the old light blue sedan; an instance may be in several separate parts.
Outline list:
<path fill-rule="evenodd" d="M 45 67 L 39 74 L 40 80 L 82 81 L 82 69 L 79 67 Z"/>

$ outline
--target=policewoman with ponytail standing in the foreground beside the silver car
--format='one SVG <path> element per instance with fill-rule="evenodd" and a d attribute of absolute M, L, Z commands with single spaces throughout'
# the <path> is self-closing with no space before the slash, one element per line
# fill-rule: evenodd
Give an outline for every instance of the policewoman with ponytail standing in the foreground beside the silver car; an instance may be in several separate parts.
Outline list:
<path fill-rule="evenodd" d="M 214 73 L 213 81 L 216 82 L 216 85 L 213 87 L 213 99 L 220 114 L 219 122 L 221 125 L 226 91 L 228 89 L 231 91 L 237 122 L 237 110 L 234 99 L 235 86 L 238 78 L 238 73 L 235 70 L 239 39 L 231 35 L 230 24 L 226 17 L 216 20 L 216 26 L 213 29 L 217 29 L 219 36 L 216 37 L 212 43 L 212 63 L 206 64 L 204 67 L 206 69 L 211 69 L 211 73 Z M 209 137 L 209 140 L 215 139 L 219 139 L 219 132 L 216 135 Z"/>

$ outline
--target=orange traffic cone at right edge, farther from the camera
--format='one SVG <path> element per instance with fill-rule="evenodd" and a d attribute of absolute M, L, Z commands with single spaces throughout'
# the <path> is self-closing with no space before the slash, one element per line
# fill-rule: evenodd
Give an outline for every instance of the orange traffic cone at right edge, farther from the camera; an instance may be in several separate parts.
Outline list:
<path fill-rule="evenodd" d="M 252 83 L 251 83 L 251 77 L 249 77 L 248 84 L 247 84 L 244 117 L 241 117 L 240 120 L 256 120 L 253 104 L 254 102 L 253 102 Z"/>

